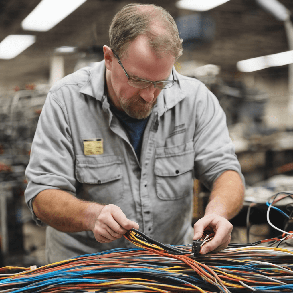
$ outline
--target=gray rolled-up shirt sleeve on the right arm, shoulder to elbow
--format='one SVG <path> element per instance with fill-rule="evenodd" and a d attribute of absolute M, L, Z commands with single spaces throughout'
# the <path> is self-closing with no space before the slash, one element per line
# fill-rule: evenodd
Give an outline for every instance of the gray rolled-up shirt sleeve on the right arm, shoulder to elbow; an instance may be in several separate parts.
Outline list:
<path fill-rule="evenodd" d="M 196 105 L 194 136 L 195 177 L 211 189 L 214 181 L 226 170 L 239 173 L 241 166 L 235 154 L 226 124 L 226 115 L 219 101 L 204 85 L 198 88 L 201 97 Z"/>

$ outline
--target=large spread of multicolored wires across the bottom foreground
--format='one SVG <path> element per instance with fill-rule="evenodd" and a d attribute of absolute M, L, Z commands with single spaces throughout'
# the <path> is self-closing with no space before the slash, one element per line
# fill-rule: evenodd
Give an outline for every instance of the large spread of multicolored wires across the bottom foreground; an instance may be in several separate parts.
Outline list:
<path fill-rule="evenodd" d="M 139 247 L 18 268 L 20 273 L 2 268 L 0 293 L 293 291 L 293 249 L 234 244 L 193 257 L 191 245 L 164 245 L 134 229 L 125 238 Z"/>

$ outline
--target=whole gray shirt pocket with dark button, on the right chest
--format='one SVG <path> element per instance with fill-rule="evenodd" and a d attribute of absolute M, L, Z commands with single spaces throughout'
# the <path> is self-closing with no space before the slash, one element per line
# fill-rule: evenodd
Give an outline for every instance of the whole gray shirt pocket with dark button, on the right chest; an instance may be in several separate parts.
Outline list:
<path fill-rule="evenodd" d="M 161 200 L 177 200 L 193 189 L 193 142 L 156 148 L 156 194 Z"/>

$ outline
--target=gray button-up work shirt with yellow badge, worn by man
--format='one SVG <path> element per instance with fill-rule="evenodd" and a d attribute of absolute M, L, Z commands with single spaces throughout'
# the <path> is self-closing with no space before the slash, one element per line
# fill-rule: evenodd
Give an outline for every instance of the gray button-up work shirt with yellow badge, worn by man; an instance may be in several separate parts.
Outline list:
<path fill-rule="evenodd" d="M 104 61 L 51 88 L 25 173 L 26 202 L 38 224 L 33 198 L 42 190 L 62 189 L 119 206 L 157 241 L 191 243 L 193 178 L 210 189 L 224 171 L 241 174 L 241 167 L 217 98 L 200 81 L 173 71 L 178 81 L 157 97 L 140 159 L 110 111 Z M 127 246 L 123 237 L 102 244 L 91 231 L 63 233 L 47 227 L 48 262 Z"/>

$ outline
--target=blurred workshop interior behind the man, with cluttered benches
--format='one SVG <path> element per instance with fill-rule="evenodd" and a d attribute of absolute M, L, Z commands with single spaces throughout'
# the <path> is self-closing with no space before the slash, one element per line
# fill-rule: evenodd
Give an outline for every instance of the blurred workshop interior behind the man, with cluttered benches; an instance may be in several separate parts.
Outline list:
<path fill-rule="evenodd" d="M 62 2 L 67 1 L 51 0 L 56 5 L 53 13 Z M 35 225 L 24 201 L 24 171 L 38 117 L 54 82 L 103 59 L 110 21 L 132 1 L 83 2 L 52 29 L 36 31 L 23 29 L 22 22 L 40 0 L 0 0 L 0 42 L 10 35 L 31 35 L 33 40 L 11 59 L 2 55 L 0 43 L 0 267 L 45 264 L 45 227 Z M 204 82 L 227 115 L 246 179 L 245 205 L 231 220 L 232 242 L 274 236 L 276 231 L 266 222 L 265 202 L 278 191 L 293 190 L 293 67 L 288 65 L 293 51 L 285 61 L 280 57 L 280 63 L 270 62 L 272 56 L 248 62 L 260 65 L 251 69 L 243 69 L 239 61 L 293 50 L 293 1 L 222 0 L 207 11 L 187 9 L 184 1 L 137 2 L 160 5 L 175 18 L 184 47 L 177 71 Z M 273 15 L 264 2 L 277 5 L 288 17 L 276 15 L 278 9 Z M 208 195 L 195 180 L 193 222 L 203 215 Z M 247 219 L 251 202 L 258 205 L 249 208 Z M 292 211 L 290 202 L 287 208 Z M 272 211 L 271 217 L 281 229 L 284 224 L 288 228 L 279 214 Z"/>

